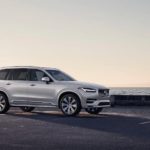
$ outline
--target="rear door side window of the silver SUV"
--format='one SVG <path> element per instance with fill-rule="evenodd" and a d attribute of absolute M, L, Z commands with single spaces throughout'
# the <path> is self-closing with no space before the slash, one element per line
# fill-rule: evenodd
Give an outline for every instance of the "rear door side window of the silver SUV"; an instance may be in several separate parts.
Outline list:
<path fill-rule="evenodd" d="M 12 73 L 13 80 L 27 80 L 28 70 L 27 69 L 14 69 Z"/>

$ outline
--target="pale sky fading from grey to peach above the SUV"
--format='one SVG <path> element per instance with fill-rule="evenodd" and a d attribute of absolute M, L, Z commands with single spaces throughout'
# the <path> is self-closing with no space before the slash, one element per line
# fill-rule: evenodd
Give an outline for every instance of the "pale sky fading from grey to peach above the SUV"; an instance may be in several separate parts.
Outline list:
<path fill-rule="evenodd" d="M 149 87 L 149 57 L 149 0 L 0 0 L 0 67 L 52 67 L 109 87 Z"/>

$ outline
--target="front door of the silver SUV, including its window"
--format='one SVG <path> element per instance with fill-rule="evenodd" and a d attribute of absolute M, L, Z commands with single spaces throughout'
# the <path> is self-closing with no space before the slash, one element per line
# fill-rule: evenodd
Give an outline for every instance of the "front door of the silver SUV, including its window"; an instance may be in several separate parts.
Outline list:
<path fill-rule="evenodd" d="M 55 106 L 55 83 L 49 84 L 42 81 L 47 74 L 38 69 L 29 69 L 29 81 L 27 88 L 27 99 L 32 105 Z"/>

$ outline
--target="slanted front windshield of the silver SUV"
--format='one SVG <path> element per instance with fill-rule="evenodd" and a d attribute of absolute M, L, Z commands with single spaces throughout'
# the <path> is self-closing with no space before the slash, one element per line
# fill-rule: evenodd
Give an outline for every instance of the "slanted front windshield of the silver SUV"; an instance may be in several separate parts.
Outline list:
<path fill-rule="evenodd" d="M 46 70 L 55 80 L 58 81 L 75 81 L 70 76 L 66 75 L 65 73 L 59 70 Z"/>

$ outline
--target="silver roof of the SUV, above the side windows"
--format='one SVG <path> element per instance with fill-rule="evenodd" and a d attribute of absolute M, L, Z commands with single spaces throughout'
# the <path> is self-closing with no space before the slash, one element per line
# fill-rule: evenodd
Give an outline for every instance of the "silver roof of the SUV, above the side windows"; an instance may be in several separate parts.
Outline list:
<path fill-rule="evenodd" d="M 56 68 L 50 68 L 50 67 L 39 67 L 39 66 L 7 66 L 7 67 L 1 67 L 2 69 L 19 69 L 19 68 L 25 68 L 25 69 L 42 69 L 42 70 L 58 70 Z"/>

